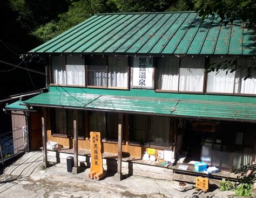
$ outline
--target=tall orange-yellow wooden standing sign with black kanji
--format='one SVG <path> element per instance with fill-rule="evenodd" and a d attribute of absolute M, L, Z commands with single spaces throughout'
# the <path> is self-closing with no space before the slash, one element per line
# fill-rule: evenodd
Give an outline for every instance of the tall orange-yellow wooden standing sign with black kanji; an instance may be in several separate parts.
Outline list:
<path fill-rule="evenodd" d="M 102 162 L 102 145 L 100 132 L 90 132 L 91 137 L 91 168 L 88 174 L 89 179 L 99 180 L 105 175 Z"/>

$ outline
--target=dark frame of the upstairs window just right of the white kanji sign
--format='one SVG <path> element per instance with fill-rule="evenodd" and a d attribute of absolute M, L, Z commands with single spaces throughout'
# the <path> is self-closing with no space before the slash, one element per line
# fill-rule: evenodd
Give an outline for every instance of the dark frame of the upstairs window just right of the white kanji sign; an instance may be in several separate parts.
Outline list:
<path fill-rule="evenodd" d="M 159 68 L 159 65 L 158 65 L 158 60 L 159 60 L 159 58 L 175 58 L 175 57 L 173 57 L 173 56 L 166 56 L 166 57 L 158 57 L 157 58 L 157 63 L 156 63 L 156 80 L 155 80 L 155 84 L 156 84 L 156 88 L 155 88 L 155 91 L 156 92 L 159 92 L 159 93 L 161 93 L 161 92 L 163 92 L 163 93 L 180 93 L 180 94 L 205 94 L 205 90 L 206 90 L 206 84 L 205 84 L 205 81 L 206 81 L 206 70 L 205 70 L 205 68 L 203 69 L 204 70 L 204 76 L 203 76 L 203 90 L 202 91 L 180 91 L 179 89 L 180 89 L 180 68 L 181 68 L 181 57 L 179 57 L 178 59 L 179 59 L 179 68 L 178 68 L 178 72 L 179 72 L 179 77 L 178 77 L 178 90 L 163 90 L 163 89 L 158 89 L 157 88 L 157 72 L 158 72 L 158 68 Z M 185 57 L 185 58 L 189 58 L 188 56 L 187 57 Z M 195 57 L 195 58 L 197 58 L 197 57 Z M 203 60 L 203 58 L 202 58 L 202 60 Z M 205 62 L 206 62 L 206 58 L 204 57 L 204 66 L 206 65 L 205 64 Z"/>

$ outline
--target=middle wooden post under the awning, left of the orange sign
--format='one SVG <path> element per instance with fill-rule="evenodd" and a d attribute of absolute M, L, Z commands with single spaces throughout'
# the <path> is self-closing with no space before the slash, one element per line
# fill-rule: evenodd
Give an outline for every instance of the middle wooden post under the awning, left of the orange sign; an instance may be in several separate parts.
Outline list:
<path fill-rule="evenodd" d="M 79 173 L 80 167 L 78 166 L 78 112 L 74 110 L 74 121 L 73 121 L 73 128 L 74 128 L 74 167 L 72 169 L 72 173 Z"/>

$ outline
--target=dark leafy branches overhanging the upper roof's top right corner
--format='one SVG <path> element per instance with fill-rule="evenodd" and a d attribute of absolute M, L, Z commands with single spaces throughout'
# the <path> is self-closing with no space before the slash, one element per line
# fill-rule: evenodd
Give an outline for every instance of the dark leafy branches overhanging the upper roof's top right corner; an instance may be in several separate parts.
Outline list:
<path fill-rule="evenodd" d="M 195 8 L 203 18 L 217 13 L 225 25 L 236 19 L 242 19 L 250 27 L 255 27 L 255 0 L 198 0 Z"/>

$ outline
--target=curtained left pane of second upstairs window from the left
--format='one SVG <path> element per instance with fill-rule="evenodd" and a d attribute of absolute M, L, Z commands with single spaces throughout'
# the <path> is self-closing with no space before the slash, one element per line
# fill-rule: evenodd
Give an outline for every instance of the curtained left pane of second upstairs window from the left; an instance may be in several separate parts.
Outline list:
<path fill-rule="evenodd" d="M 89 86 L 107 86 L 107 68 L 106 66 L 89 65 L 88 66 L 88 85 Z"/>

